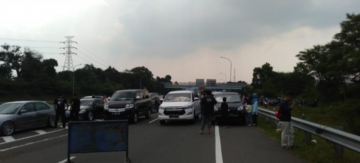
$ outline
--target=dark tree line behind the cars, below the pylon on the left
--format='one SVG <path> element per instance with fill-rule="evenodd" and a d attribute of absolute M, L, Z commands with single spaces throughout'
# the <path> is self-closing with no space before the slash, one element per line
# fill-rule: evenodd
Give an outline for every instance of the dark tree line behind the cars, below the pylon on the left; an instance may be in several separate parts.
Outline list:
<path fill-rule="evenodd" d="M 35 50 L 21 50 L 21 46 L 9 44 L 1 45 L 1 48 L 0 94 L 3 97 L 14 92 L 19 94 L 19 97 L 25 92 L 29 92 L 31 96 L 54 96 L 58 92 L 70 96 L 73 92 L 74 73 L 74 91 L 83 95 L 111 95 L 116 90 L 140 88 L 160 94 L 170 91 L 161 84 L 171 82 L 170 75 L 154 77 L 144 66 L 120 72 L 111 66 L 101 69 L 93 64 L 85 64 L 74 72 L 56 72 L 58 61 L 53 58 L 44 59 L 43 55 Z M 13 71 L 16 74 L 13 74 Z"/>

